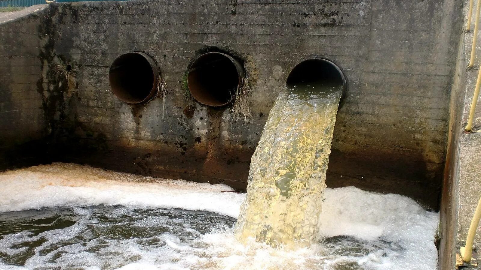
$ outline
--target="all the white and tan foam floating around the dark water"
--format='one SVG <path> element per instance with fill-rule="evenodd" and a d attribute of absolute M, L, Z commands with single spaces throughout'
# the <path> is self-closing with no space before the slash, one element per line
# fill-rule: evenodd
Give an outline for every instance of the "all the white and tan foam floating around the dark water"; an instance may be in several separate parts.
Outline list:
<path fill-rule="evenodd" d="M 150 183 L 149 183 L 150 182 Z M 205 210 L 237 218 L 244 194 L 237 194 L 226 185 L 199 184 L 183 180 L 164 180 L 105 171 L 76 164 L 54 163 L 16 171 L 0 173 L 0 211 L 20 211 L 63 205 L 125 205 L 127 207 L 180 208 Z M 15 233 L 5 237 L 15 241 L 47 239 L 45 245 L 55 245 L 80 234 L 85 222 L 96 224 L 89 218 L 88 209 L 76 209 L 84 217 L 74 225 L 48 231 L 38 236 Z M 112 215 L 128 214 L 119 209 Z M 158 217 L 149 217 L 135 224 L 149 227 Z M 133 269 L 331 269 L 340 263 L 355 263 L 364 269 L 434 270 L 437 250 L 434 231 L 439 214 L 422 209 L 405 196 L 381 195 L 354 187 L 326 189 L 326 200 L 320 217 L 320 232 L 326 236 L 351 235 L 366 241 L 384 241 L 382 248 L 370 248 L 365 255 L 353 257 L 326 253 L 323 245 L 309 248 L 275 249 L 250 241 L 240 244 L 232 230 L 207 233 L 191 243 L 182 243 L 172 234 L 156 236 L 166 245 L 144 246 L 136 239 L 109 240 L 101 257 L 86 252 L 88 246 L 76 244 L 59 247 L 64 253 L 56 263 L 79 265 L 88 269 L 103 269 L 102 261 L 109 260 L 111 268 Z M 195 234 L 200 235 L 200 234 Z M 4 238 L 5 239 L 5 238 Z M 95 241 L 106 241 L 97 239 Z M 86 245 L 94 245 L 87 243 Z M 52 244 L 53 243 L 53 244 Z M 391 244 L 390 244 L 391 243 Z M 1 243 L 0 243 L 1 244 Z M 3 244 L 1 249 L 10 249 Z M 40 250 L 39 248 L 38 250 Z M 118 256 L 136 258 L 126 265 Z M 36 254 L 25 267 L 48 265 L 52 254 Z M 51 265 L 52 266 L 52 265 Z M 2 265 L 1 269 L 22 269 Z"/>

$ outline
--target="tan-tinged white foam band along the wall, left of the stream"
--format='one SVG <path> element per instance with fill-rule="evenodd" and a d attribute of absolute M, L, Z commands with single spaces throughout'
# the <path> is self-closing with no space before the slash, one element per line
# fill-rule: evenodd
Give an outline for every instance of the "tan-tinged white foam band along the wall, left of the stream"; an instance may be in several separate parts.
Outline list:
<path fill-rule="evenodd" d="M 237 217 L 238 205 L 244 199 L 224 184 L 143 177 L 65 163 L 1 173 L 0 183 L 0 212 L 119 204 L 205 210 Z"/>

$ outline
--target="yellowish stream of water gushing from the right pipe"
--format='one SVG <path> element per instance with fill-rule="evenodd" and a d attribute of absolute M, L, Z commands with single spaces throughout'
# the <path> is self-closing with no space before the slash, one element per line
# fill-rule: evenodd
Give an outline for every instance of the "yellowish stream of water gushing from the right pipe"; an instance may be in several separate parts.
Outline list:
<path fill-rule="evenodd" d="M 282 91 L 251 160 L 247 196 L 236 224 L 242 241 L 316 242 L 342 86 Z"/>

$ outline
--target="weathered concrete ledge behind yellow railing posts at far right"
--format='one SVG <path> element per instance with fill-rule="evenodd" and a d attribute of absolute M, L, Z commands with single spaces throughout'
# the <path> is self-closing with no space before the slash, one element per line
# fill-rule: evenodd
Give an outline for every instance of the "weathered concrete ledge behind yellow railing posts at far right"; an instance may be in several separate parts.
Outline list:
<path fill-rule="evenodd" d="M 466 1 L 465 5 L 468 5 Z M 474 12 L 471 29 L 474 29 Z M 465 8 L 467 16 L 468 9 Z M 466 57 L 469 59 L 471 55 L 471 45 L 473 40 L 473 32 L 465 34 Z M 466 126 L 471 110 L 474 88 L 478 77 L 481 64 L 481 36 L 478 33 L 476 42 L 476 58 L 474 68 L 467 70 L 466 85 L 466 107 L 463 114 L 463 127 Z M 479 130 L 481 126 L 481 103 L 478 99 L 476 112 L 474 115 L 474 130 Z M 474 210 L 481 196 L 481 132 L 462 134 L 461 135 L 461 152 L 460 152 L 460 172 L 459 172 L 459 214 L 458 214 L 458 246 L 464 246 L 466 236 L 468 234 L 469 225 L 474 215 Z M 479 250 L 481 248 L 481 227 L 478 227 L 474 246 Z M 479 263 L 479 262 L 478 262 Z M 481 269 L 481 268 L 478 268 Z"/>

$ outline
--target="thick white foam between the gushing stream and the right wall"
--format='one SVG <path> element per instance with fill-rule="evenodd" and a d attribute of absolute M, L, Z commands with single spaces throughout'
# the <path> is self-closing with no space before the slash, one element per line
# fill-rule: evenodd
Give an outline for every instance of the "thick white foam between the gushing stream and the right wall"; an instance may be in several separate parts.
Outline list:
<path fill-rule="evenodd" d="M 436 269 L 434 233 L 438 223 L 439 213 L 424 210 L 408 197 L 354 187 L 328 189 L 319 222 L 324 235 L 379 238 L 400 245 L 404 249 L 402 256 L 376 258 L 380 269 L 392 270 Z"/>

